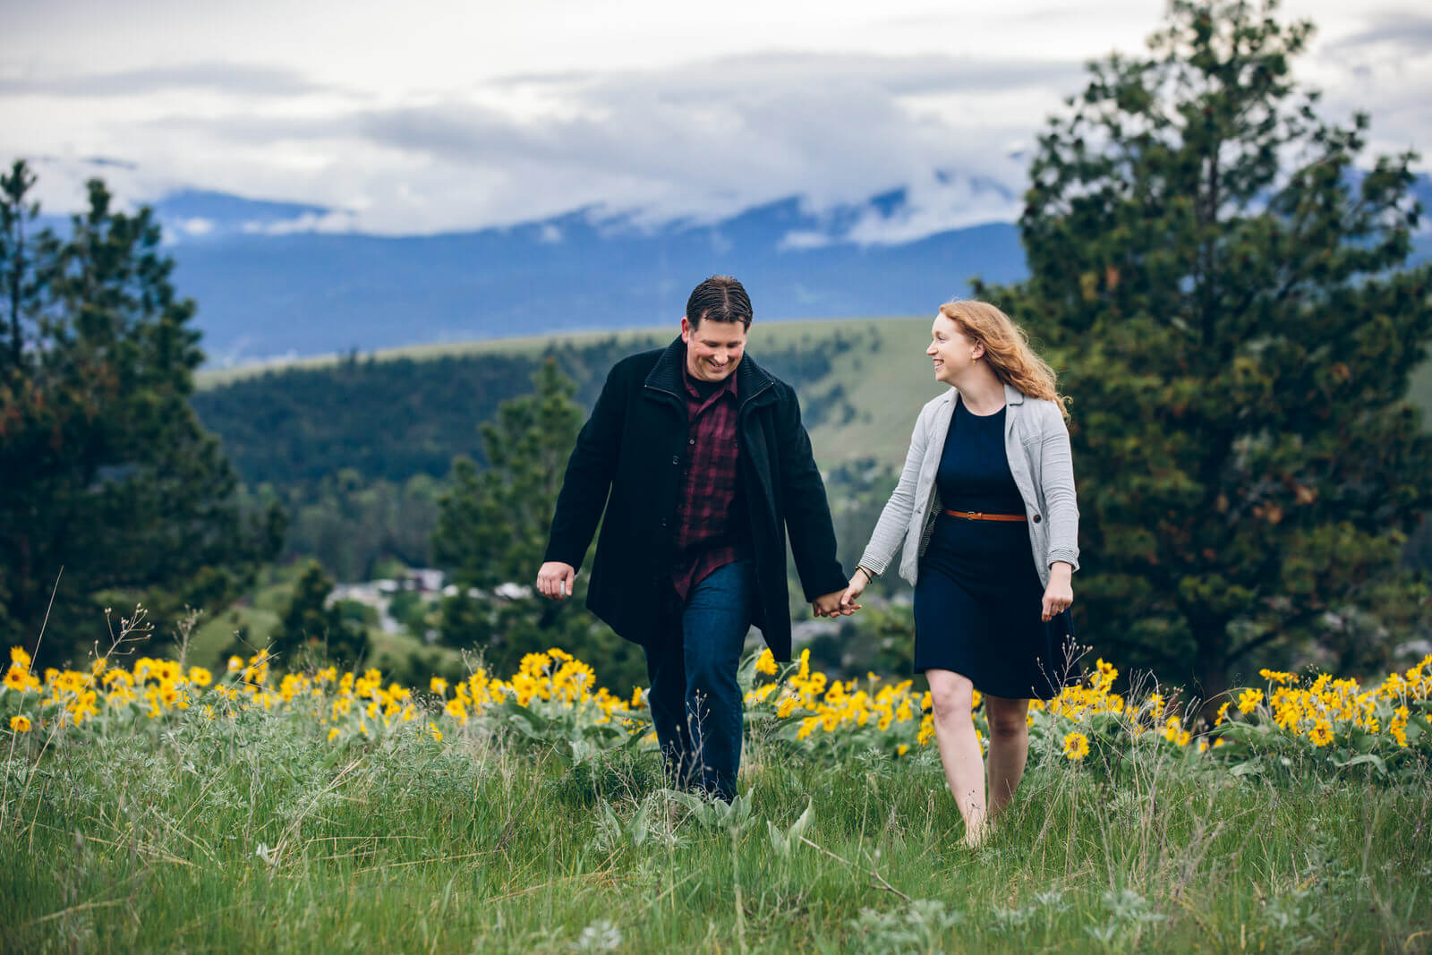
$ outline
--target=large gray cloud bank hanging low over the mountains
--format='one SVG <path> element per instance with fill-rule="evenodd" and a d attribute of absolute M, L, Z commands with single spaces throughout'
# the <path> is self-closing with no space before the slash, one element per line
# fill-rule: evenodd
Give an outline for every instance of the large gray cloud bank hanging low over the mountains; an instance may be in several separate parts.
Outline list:
<path fill-rule="evenodd" d="M 619 74 L 508 76 L 477 97 L 322 119 L 263 109 L 168 116 L 129 135 L 160 150 L 205 143 L 212 155 L 326 155 L 311 179 L 285 173 L 284 195 L 359 209 L 364 229 L 503 225 L 579 208 L 656 225 L 792 195 L 823 209 L 919 183 L 947 203 L 959 193 L 939 189 L 938 169 L 1017 189 L 1024 163 L 1008 157 L 1010 145 L 1031 139 L 1041 105 L 1057 103 L 1080 69 L 772 53 Z M 982 109 L 959 122 L 962 109 L 1011 96 L 1018 116 Z M 493 105 L 503 102 L 538 106 Z M 981 200 L 984 220 L 1004 216 L 990 208 Z"/>

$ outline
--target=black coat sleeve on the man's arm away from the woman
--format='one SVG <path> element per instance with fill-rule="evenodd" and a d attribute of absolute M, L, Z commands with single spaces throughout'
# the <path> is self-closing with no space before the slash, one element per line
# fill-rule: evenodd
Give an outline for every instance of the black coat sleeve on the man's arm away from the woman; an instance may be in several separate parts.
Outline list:
<path fill-rule="evenodd" d="M 620 365 L 607 374 L 591 417 L 577 434 L 577 444 L 567 458 L 544 561 L 556 560 L 581 567 L 591 535 L 597 531 L 597 521 L 607 505 L 626 420 L 626 387 L 619 369 Z"/>

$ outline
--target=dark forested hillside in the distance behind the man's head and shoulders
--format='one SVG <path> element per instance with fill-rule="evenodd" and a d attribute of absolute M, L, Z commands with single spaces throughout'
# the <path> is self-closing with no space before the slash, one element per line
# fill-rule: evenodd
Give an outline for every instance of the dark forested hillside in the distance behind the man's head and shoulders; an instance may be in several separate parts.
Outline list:
<path fill-rule="evenodd" d="M 286 556 L 315 556 L 341 580 L 358 580 L 384 557 L 428 563 L 453 458 L 484 462 L 478 425 L 503 401 L 533 389 L 540 362 L 554 361 L 590 408 L 611 365 L 667 341 L 610 336 L 557 342 L 540 354 L 422 359 L 351 355 L 202 389 L 192 405 L 222 441 L 246 494 L 284 504 Z M 858 334 L 838 332 L 753 357 L 800 391 L 806 427 L 815 427 L 856 414 L 841 384 L 825 381 L 832 359 L 856 341 Z"/>

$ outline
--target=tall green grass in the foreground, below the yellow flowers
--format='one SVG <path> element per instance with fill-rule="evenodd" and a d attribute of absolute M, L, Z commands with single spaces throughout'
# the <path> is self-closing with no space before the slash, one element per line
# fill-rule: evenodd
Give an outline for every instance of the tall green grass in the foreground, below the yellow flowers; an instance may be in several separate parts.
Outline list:
<path fill-rule="evenodd" d="M 656 755 L 573 766 L 464 730 L 337 746 L 190 712 L 14 737 L 7 952 L 1428 951 L 1432 779 L 1156 747 L 1035 753 L 979 849 L 938 757 L 821 759 L 756 727 L 723 810 Z M 43 749 L 43 752 L 42 752 Z M 808 812 L 809 809 L 809 812 Z M 803 819 L 802 819 L 803 818 Z"/>

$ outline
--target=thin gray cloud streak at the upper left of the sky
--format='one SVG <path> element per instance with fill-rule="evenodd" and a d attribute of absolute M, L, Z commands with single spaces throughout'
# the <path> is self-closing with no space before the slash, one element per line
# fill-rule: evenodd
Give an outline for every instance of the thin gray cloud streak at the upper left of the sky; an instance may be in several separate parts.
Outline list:
<path fill-rule="evenodd" d="M 241 63 L 189 63 L 116 73 L 0 79 L 0 96 L 149 96 L 212 90 L 236 96 L 301 96 L 322 90 L 289 69 Z"/>

